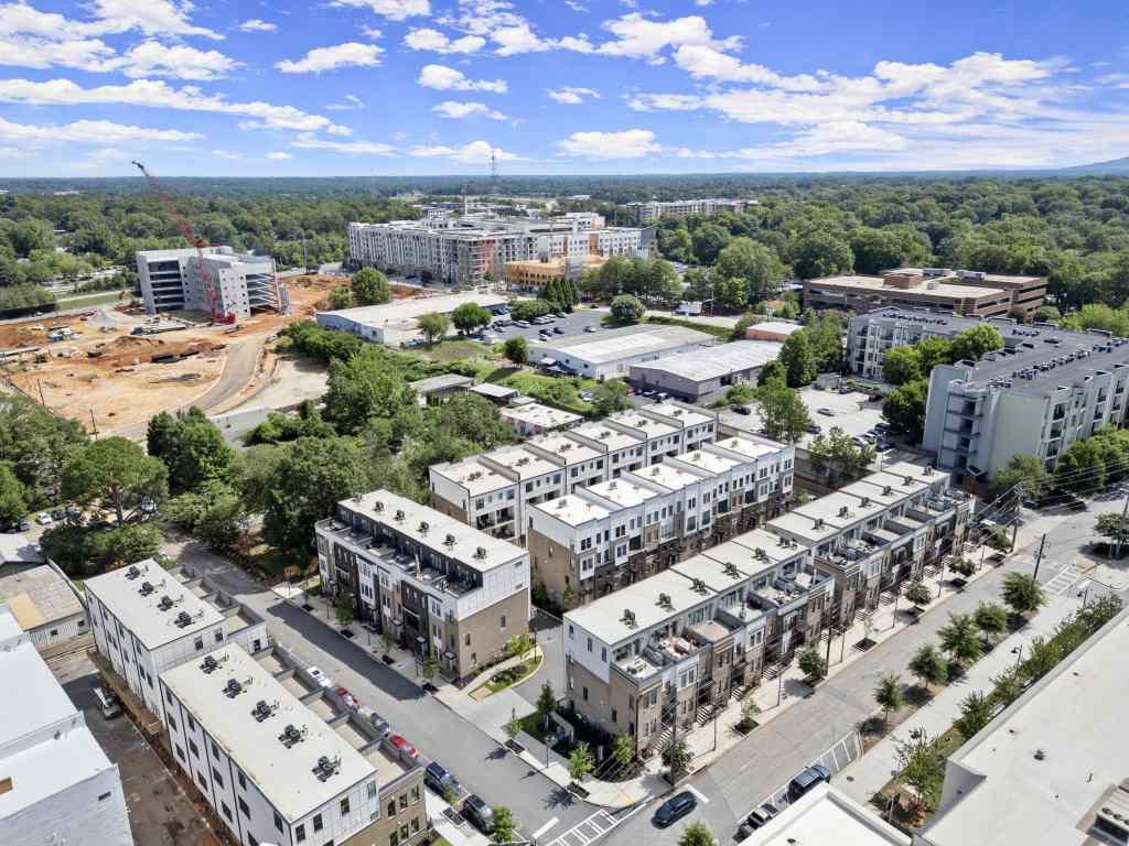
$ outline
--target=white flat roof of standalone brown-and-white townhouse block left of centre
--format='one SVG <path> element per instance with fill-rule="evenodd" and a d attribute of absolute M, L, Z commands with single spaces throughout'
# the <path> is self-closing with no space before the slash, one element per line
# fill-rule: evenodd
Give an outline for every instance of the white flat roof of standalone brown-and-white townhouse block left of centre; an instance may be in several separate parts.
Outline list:
<path fill-rule="evenodd" d="M 493 570 L 526 555 L 524 549 L 508 540 L 479 531 L 462 520 L 447 517 L 429 505 L 421 505 L 391 491 L 373 491 L 353 496 L 342 500 L 341 505 L 399 531 L 446 558 L 455 558 L 481 572 Z M 403 512 L 402 520 L 396 520 L 397 512 Z M 427 529 L 420 531 L 423 523 L 427 523 Z M 455 543 L 448 545 L 448 537 L 454 538 Z M 479 549 L 484 552 L 481 557 L 478 556 Z"/>

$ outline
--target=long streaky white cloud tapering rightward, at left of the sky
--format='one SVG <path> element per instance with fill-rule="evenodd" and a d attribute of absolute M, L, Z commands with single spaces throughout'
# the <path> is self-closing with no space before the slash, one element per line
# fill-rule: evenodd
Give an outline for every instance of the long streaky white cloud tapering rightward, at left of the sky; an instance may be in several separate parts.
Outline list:
<path fill-rule="evenodd" d="M 269 127 L 314 132 L 318 130 L 348 134 L 327 117 L 303 112 L 294 106 L 277 106 L 255 100 L 233 103 L 222 95 L 209 95 L 194 86 L 175 88 L 160 80 L 135 80 L 129 85 L 82 88 L 69 79 L 33 82 L 27 79 L 0 80 L 0 102 L 38 106 L 125 105 L 147 108 L 169 108 L 178 112 L 213 112 L 253 118 L 247 129 Z"/>

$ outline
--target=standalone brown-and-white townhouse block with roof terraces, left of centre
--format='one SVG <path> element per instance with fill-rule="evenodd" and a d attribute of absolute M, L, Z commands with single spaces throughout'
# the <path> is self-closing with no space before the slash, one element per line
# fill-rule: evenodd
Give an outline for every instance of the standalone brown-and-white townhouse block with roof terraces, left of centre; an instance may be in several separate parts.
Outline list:
<path fill-rule="evenodd" d="M 462 520 L 375 491 L 338 503 L 316 536 L 326 591 L 352 593 L 358 616 L 452 678 L 528 631 L 528 553 Z"/>

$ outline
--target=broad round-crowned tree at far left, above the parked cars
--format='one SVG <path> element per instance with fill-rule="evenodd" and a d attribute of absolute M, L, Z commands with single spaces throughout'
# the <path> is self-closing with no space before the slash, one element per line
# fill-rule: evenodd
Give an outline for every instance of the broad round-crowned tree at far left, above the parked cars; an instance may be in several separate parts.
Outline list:
<path fill-rule="evenodd" d="M 126 438 L 105 438 L 82 447 L 63 472 L 62 494 L 84 505 L 100 504 L 122 525 L 146 500 L 164 501 L 168 472 Z"/>

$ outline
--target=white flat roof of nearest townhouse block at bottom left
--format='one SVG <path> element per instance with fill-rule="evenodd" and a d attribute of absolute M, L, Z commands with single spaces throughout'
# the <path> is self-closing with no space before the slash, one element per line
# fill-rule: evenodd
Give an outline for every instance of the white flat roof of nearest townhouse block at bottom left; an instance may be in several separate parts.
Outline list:
<path fill-rule="evenodd" d="M 160 680 L 287 821 L 375 778 L 369 761 L 242 646 L 231 643 L 211 655 L 219 662 L 211 673 L 204 673 L 200 661 L 189 661 L 163 672 Z M 242 684 L 243 691 L 228 696 L 229 680 Z M 253 713 L 261 700 L 278 703 L 278 711 L 262 722 Z M 279 741 L 287 725 L 306 731 L 289 749 Z M 340 760 L 339 770 L 325 781 L 313 772 L 322 756 Z"/>

